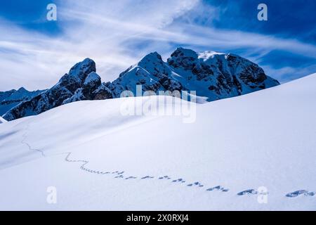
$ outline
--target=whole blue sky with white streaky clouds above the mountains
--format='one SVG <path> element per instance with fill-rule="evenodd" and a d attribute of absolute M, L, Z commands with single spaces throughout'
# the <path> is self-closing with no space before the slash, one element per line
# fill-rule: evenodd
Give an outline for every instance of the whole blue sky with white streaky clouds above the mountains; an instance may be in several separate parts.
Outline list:
<path fill-rule="evenodd" d="M 46 6 L 57 6 L 57 21 Z M 268 21 L 258 21 L 258 4 Z M 119 0 L 1 2 L 0 90 L 52 86 L 77 61 L 97 63 L 103 81 L 151 51 L 178 46 L 237 53 L 288 82 L 316 72 L 314 0 Z"/>

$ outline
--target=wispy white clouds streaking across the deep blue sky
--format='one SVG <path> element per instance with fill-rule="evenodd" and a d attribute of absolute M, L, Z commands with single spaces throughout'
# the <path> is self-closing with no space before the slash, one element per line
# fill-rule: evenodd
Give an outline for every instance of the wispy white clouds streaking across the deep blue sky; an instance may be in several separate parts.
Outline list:
<path fill-rule="evenodd" d="M 104 81 L 150 51 L 165 58 L 176 46 L 197 51 L 233 51 L 261 63 L 271 51 L 288 51 L 316 59 L 316 46 L 298 39 L 212 26 L 223 8 L 199 0 L 57 1 L 60 32 L 51 34 L 0 20 L 0 89 L 55 84 L 79 60 L 97 63 Z M 256 10 L 256 8 L 254 9 Z M 46 22 L 48 23 L 48 22 Z M 55 23 L 55 22 L 50 22 Z M 265 63 L 270 75 L 287 81 L 298 69 Z M 313 68 L 302 70 L 306 75 Z M 291 76 L 287 76 L 291 73 Z M 285 77 L 285 78 L 284 78 Z"/>

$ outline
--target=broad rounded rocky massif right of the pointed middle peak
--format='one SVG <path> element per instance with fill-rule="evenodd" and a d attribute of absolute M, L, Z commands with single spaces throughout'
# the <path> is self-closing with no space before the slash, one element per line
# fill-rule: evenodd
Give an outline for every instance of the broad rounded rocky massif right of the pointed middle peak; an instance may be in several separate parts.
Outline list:
<path fill-rule="evenodd" d="M 196 53 L 179 48 L 167 63 L 176 79 L 188 84 L 187 89 L 196 90 L 197 96 L 208 101 L 248 94 L 279 84 L 265 75 L 255 63 L 234 54 L 205 51 Z"/>

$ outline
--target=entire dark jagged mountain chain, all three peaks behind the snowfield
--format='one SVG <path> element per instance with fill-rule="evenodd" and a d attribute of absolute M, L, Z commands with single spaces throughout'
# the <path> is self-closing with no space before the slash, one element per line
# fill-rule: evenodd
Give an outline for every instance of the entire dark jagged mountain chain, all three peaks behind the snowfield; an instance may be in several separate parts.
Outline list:
<path fill-rule="evenodd" d="M 119 98 L 122 91 L 196 91 L 206 101 L 248 94 L 279 85 L 255 63 L 235 54 L 178 48 L 166 62 L 159 53 L 145 56 L 121 72 L 114 82 L 101 82 L 96 63 L 86 58 L 74 65 L 51 89 L 23 101 L 4 115 L 15 120 L 59 105 L 83 100 Z"/>

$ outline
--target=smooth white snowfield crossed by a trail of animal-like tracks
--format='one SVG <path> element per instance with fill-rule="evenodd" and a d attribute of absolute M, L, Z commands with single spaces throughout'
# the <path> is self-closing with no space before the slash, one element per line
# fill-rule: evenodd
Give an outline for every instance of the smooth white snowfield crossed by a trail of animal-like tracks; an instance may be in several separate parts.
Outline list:
<path fill-rule="evenodd" d="M 316 210 L 316 74 L 196 105 L 189 124 L 123 101 L 0 124 L 0 210 Z"/>

